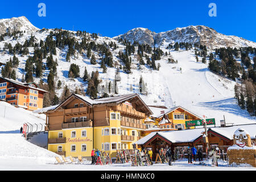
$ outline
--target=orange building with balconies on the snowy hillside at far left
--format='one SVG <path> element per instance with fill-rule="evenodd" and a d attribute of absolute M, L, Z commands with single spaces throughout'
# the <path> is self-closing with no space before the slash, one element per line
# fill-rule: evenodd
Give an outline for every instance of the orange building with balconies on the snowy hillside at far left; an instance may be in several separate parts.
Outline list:
<path fill-rule="evenodd" d="M 23 83 L 9 78 L 0 77 L 0 99 L 6 100 L 16 107 L 28 110 L 43 108 L 44 93 L 35 82 Z"/>

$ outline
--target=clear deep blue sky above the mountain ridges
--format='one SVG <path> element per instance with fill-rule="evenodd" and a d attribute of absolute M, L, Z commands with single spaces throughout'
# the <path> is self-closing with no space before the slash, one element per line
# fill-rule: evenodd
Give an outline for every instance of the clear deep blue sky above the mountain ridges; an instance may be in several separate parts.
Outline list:
<path fill-rule="evenodd" d="M 46 4 L 46 17 L 38 16 L 38 4 Z M 217 16 L 210 17 L 209 3 Z M 85 30 L 117 36 L 136 27 L 163 32 L 176 27 L 205 25 L 226 35 L 256 42 L 256 1 L 2 1 L 0 19 L 26 16 L 38 28 Z"/>

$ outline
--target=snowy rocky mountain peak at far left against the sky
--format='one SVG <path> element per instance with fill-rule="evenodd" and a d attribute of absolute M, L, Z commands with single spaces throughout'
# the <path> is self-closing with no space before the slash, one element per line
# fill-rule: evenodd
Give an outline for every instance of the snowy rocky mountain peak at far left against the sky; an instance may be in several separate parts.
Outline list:
<path fill-rule="evenodd" d="M 0 19 L 0 34 L 13 31 L 35 32 L 39 30 L 25 16 L 10 19 Z"/>

